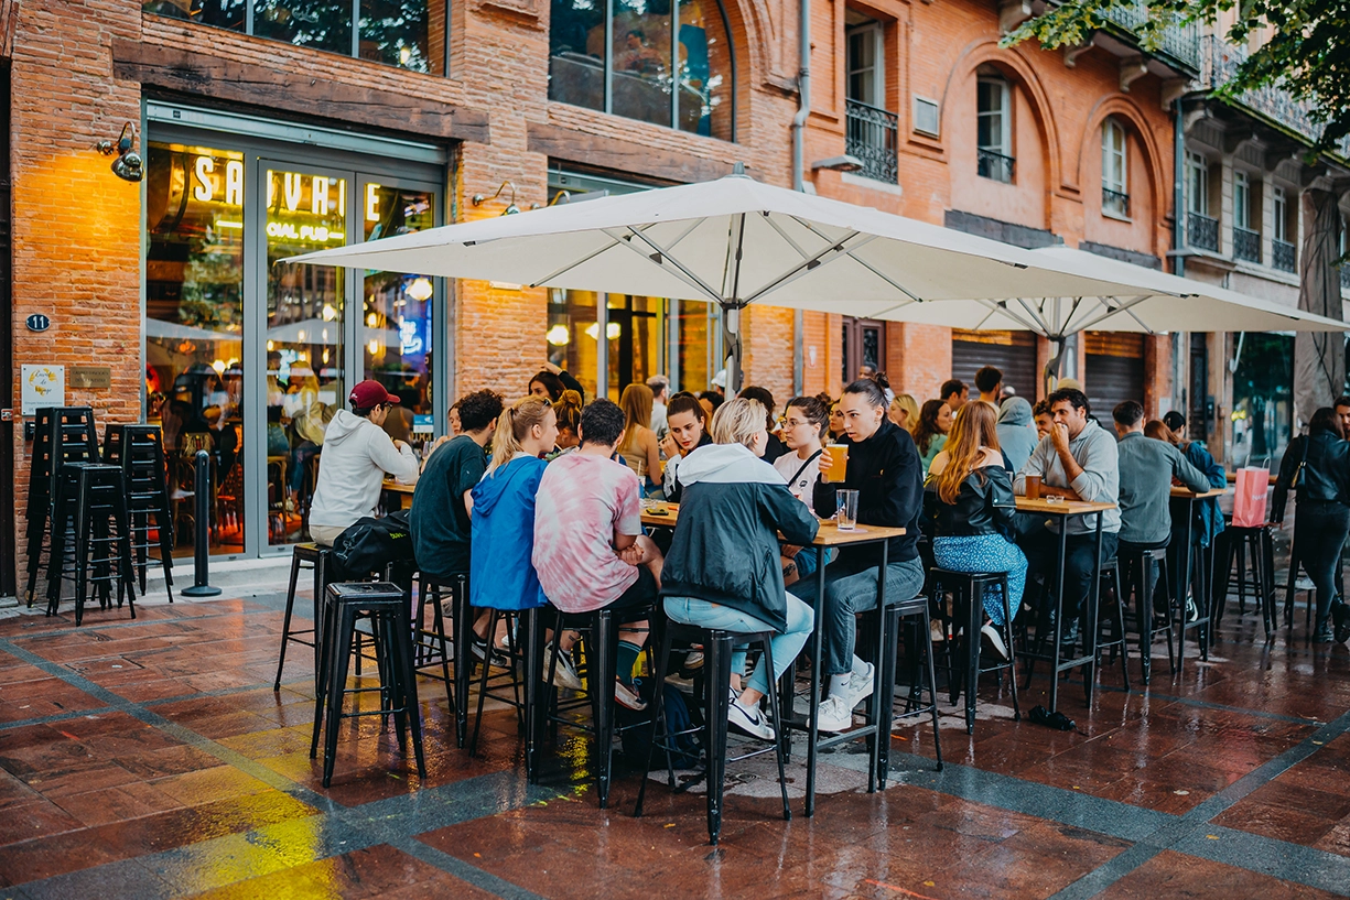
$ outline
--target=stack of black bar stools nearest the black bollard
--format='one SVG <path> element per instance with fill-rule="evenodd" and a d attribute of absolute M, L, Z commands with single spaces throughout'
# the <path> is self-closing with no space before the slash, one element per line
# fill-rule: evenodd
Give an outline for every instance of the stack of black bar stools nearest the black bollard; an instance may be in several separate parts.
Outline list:
<path fill-rule="evenodd" d="M 165 591 L 173 603 L 173 515 L 169 511 L 169 470 L 159 426 L 108 425 L 103 436 L 103 461 L 122 467 L 140 594 L 146 592 L 147 563 L 158 564 L 163 568 Z M 158 560 L 154 560 L 155 553 Z"/>

